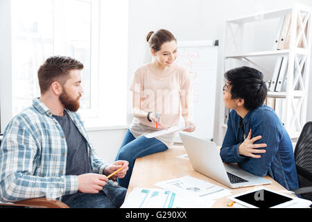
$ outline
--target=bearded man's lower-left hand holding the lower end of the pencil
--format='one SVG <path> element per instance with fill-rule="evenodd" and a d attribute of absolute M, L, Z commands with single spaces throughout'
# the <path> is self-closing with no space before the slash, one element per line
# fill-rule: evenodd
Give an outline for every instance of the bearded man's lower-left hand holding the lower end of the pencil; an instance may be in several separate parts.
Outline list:
<path fill-rule="evenodd" d="M 85 173 L 78 176 L 78 191 L 86 194 L 98 194 L 106 185 L 107 178 L 97 173 Z"/>

